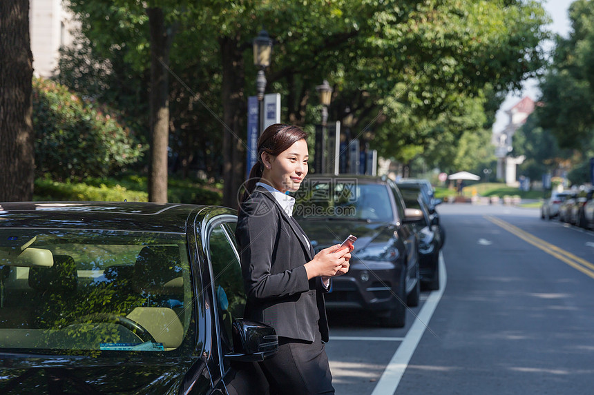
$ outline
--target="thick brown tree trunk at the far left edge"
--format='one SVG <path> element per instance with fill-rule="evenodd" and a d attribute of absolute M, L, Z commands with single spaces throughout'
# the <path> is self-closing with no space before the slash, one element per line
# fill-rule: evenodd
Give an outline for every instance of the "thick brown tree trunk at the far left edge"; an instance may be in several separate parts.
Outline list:
<path fill-rule="evenodd" d="M 0 54 L 0 201 L 30 201 L 35 153 L 28 0 L 0 1 Z"/>

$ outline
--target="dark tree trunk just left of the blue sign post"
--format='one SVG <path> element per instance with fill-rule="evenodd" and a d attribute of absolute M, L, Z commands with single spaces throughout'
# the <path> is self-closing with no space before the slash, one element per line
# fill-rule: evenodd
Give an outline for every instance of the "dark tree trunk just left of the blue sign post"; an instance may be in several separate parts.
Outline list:
<path fill-rule="evenodd" d="M 238 208 L 238 190 L 245 181 L 244 120 L 247 99 L 244 95 L 245 64 L 240 37 L 219 39 L 222 54 L 223 105 L 223 205 Z M 256 76 L 254 76 L 254 79 Z"/>

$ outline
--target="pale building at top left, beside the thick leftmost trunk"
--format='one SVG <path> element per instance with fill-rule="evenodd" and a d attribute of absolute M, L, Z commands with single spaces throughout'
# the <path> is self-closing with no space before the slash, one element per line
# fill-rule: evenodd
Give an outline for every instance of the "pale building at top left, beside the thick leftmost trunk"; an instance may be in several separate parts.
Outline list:
<path fill-rule="evenodd" d="M 51 77 L 58 65 L 59 48 L 70 45 L 73 17 L 62 0 L 30 0 L 29 32 L 33 53 L 33 72 Z"/>

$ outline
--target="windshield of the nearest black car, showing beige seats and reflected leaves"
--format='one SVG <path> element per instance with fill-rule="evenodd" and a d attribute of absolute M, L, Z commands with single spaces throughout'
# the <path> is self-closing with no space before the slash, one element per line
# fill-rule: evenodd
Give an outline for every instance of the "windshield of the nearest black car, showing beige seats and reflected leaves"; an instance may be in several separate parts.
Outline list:
<path fill-rule="evenodd" d="M 192 312 L 183 234 L 0 229 L 0 348 L 168 352 Z"/>

